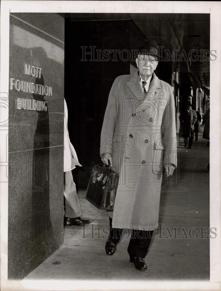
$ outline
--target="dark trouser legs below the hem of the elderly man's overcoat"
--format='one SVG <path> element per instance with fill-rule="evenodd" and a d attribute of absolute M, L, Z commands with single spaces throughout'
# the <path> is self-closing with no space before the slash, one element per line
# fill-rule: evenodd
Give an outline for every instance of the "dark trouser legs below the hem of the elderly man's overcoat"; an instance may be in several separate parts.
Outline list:
<path fill-rule="evenodd" d="M 112 228 L 112 218 L 110 218 L 110 237 L 115 244 L 120 241 L 122 235 L 122 229 Z M 133 229 L 131 239 L 127 248 L 129 256 L 140 256 L 142 258 L 147 254 L 151 239 L 153 236 L 153 230 L 144 231 Z"/>

